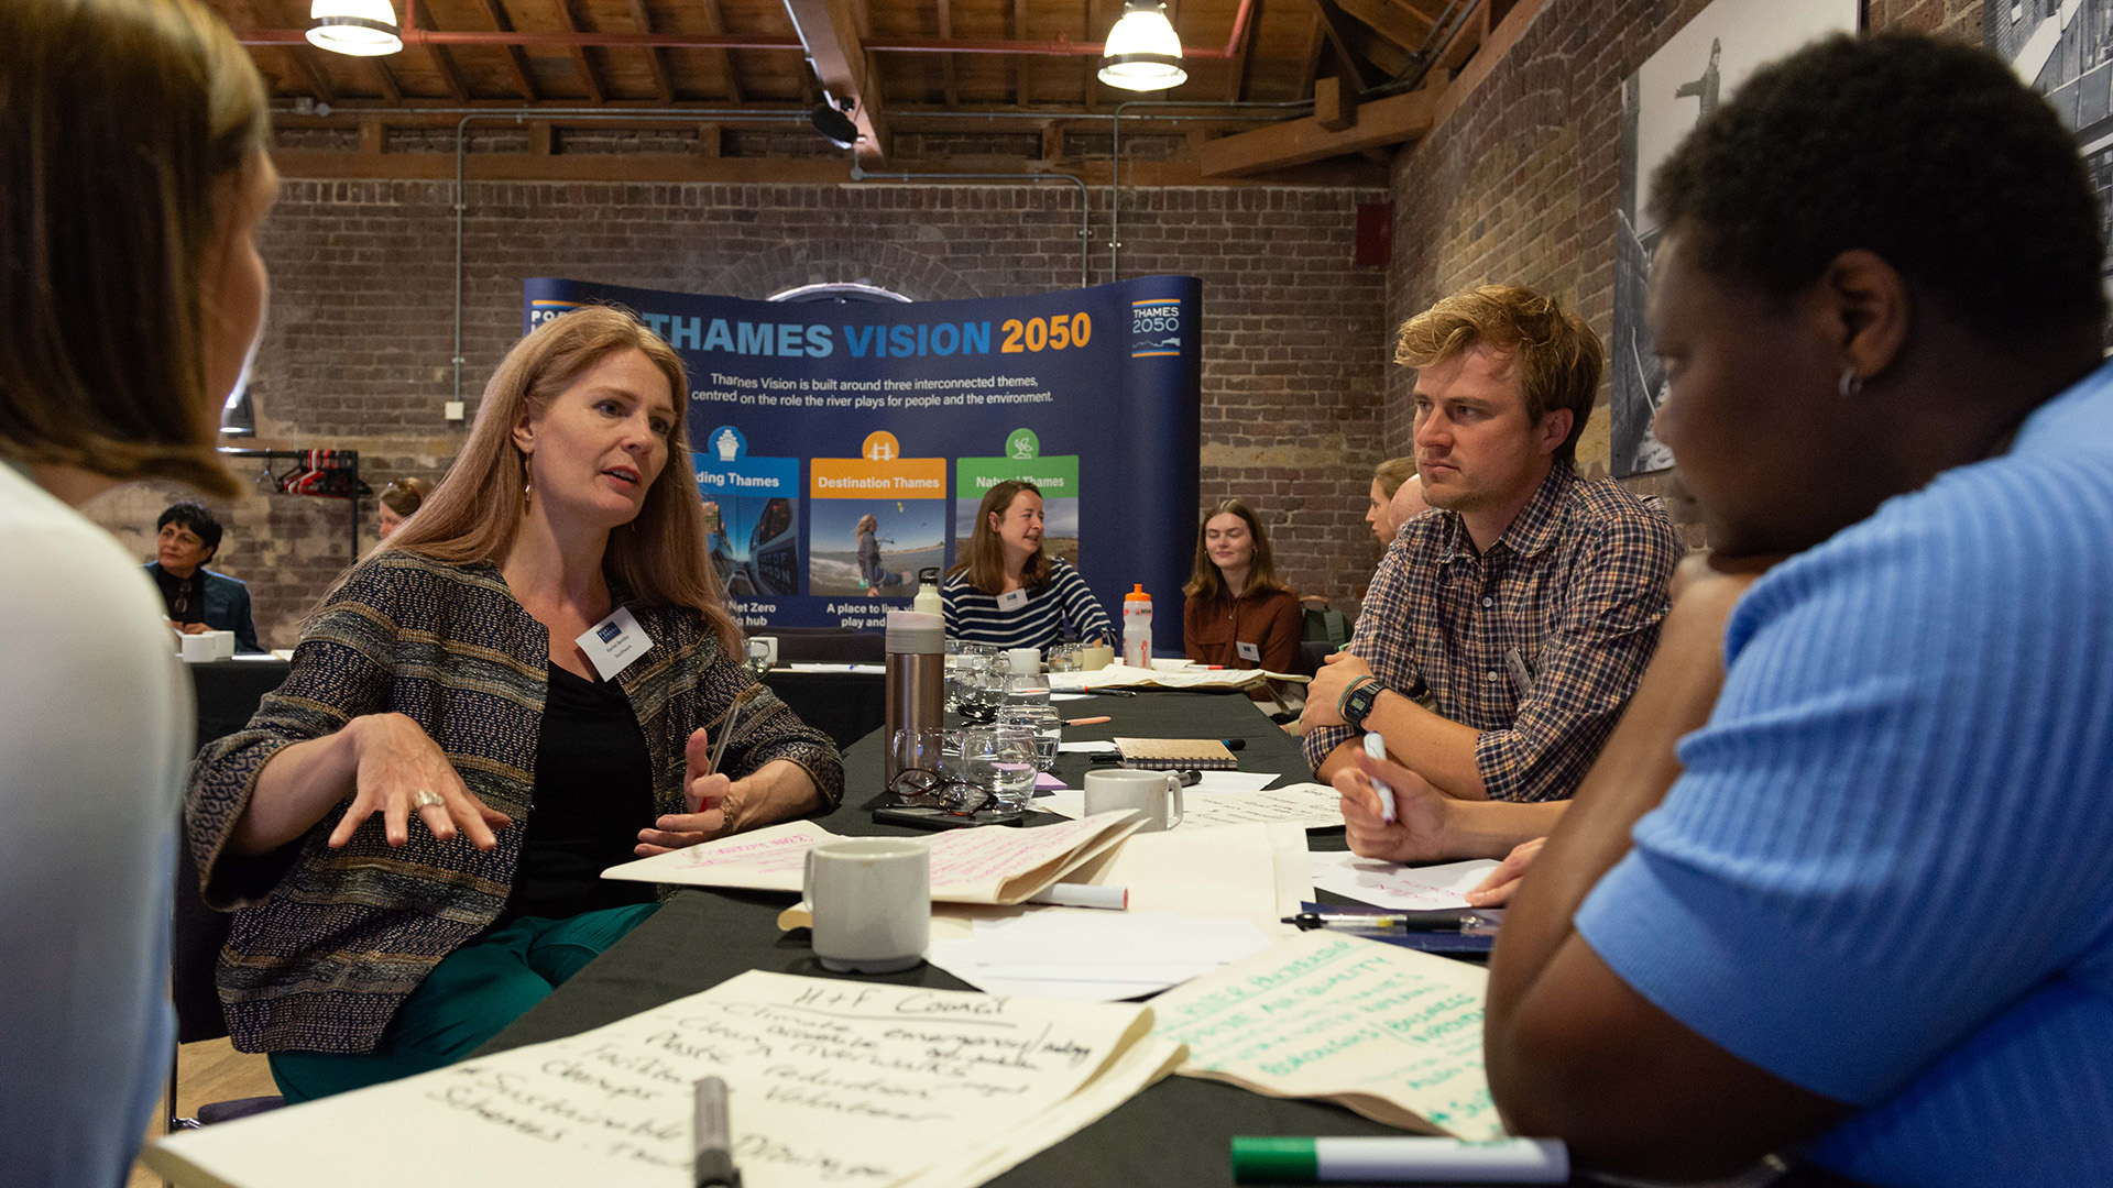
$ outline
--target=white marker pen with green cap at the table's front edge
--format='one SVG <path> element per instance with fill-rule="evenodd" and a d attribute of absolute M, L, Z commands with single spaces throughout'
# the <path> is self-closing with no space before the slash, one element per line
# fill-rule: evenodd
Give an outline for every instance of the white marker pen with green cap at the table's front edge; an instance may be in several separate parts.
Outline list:
<path fill-rule="evenodd" d="M 1236 1184 L 1564 1184 L 1570 1148 L 1559 1139 L 1232 1139 Z"/>

